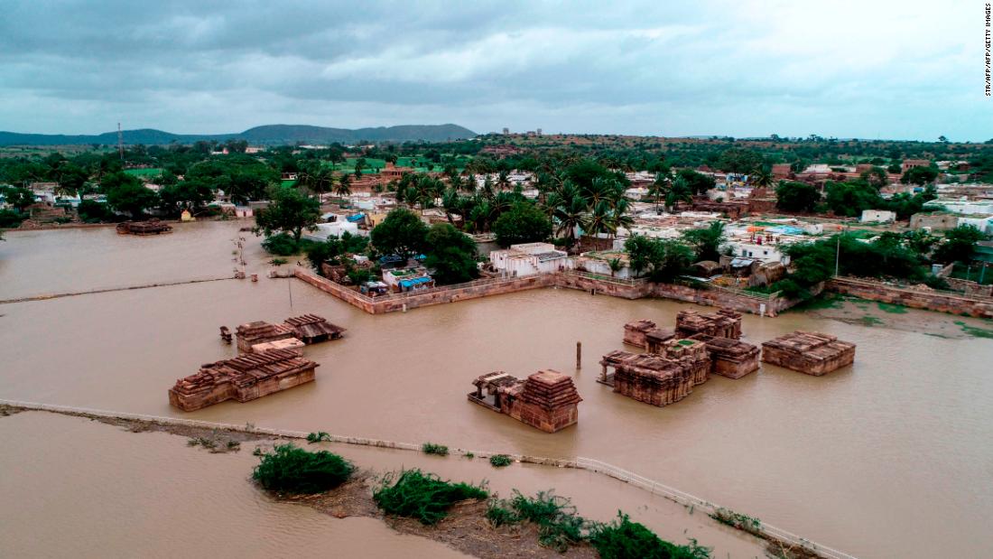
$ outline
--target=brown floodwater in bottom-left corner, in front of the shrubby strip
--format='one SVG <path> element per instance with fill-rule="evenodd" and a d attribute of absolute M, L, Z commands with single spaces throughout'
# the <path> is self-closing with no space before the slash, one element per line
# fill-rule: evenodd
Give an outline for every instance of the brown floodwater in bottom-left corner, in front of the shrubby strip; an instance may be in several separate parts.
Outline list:
<path fill-rule="evenodd" d="M 3 557 L 466 557 L 373 518 L 277 503 L 257 459 L 27 412 L 0 419 Z"/>

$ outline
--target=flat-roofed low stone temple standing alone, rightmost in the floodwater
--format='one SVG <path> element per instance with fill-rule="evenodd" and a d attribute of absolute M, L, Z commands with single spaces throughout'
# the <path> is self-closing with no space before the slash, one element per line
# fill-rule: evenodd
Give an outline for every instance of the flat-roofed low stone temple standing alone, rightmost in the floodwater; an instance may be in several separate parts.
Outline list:
<path fill-rule="evenodd" d="M 820 376 L 855 361 L 855 344 L 828 334 L 796 331 L 765 342 L 762 360 Z"/>

